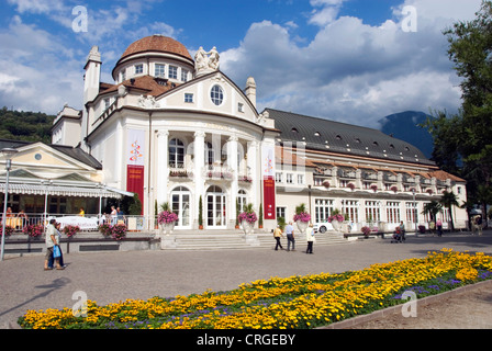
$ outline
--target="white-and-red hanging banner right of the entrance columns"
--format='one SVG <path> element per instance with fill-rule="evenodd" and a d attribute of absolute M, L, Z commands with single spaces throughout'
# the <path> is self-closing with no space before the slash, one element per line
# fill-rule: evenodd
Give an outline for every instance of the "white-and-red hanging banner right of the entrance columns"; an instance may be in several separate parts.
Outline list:
<path fill-rule="evenodd" d="M 261 147 L 261 173 L 264 181 L 264 218 L 275 219 L 275 145 Z"/>

